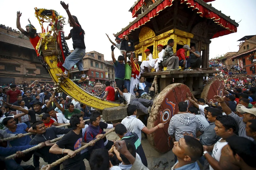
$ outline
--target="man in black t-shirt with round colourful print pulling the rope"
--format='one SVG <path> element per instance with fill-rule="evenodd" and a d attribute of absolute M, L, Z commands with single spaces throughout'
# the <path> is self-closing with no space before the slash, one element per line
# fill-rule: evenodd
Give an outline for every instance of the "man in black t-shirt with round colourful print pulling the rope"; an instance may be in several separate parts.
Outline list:
<path fill-rule="evenodd" d="M 63 162 L 63 168 L 69 170 L 84 170 L 86 169 L 83 156 L 80 152 L 74 151 L 86 145 L 82 142 L 82 128 L 84 128 L 84 121 L 82 114 L 73 114 L 70 118 L 70 126 L 73 130 L 64 135 L 58 142 L 54 144 L 49 150 L 50 153 L 69 155 L 71 158 Z M 92 141 L 94 145 L 94 141 Z"/>

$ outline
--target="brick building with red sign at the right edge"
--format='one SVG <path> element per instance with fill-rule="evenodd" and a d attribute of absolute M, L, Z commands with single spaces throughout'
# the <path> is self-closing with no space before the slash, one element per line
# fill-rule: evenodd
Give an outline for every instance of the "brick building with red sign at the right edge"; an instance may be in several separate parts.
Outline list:
<path fill-rule="evenodd" d="M 256 35 L 248 35 L 242 37 L 239 44 L 239 50 L 232 61 L 238 60 L 240 67 L 247 71 L 248 75 L 255 74 L 255 66 L 253 59 L 256 57 Z"/>

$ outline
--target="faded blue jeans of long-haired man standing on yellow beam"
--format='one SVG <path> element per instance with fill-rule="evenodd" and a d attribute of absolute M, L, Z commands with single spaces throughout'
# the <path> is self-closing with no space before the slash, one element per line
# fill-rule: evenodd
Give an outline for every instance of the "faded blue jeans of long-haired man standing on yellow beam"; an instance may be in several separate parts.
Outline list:
<path fill-rule="evenodd" d="M 83 57 L 85 55 L 85 49 L 76 48 L 74 51 L 65 59 L 63 67 L 70 70 L 75 64 L 79 71 L 83 71 Z"/>

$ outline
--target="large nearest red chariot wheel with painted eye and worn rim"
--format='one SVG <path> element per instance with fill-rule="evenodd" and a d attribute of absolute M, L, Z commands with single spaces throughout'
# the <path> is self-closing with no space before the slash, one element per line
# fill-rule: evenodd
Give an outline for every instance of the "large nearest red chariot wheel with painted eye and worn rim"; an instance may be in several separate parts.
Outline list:
<path fill-rule="evenodd" d="M 147 128 L 151 129 L 159 123 L 164 123 L 164 128 L 158 129 L 155 133 L 147 135 L 149 143 L 158 152 L 167 152 L 173 148 L 172 138 L 168 134 L 170 119 L 179 111 L 178 103 L 186 101 L 186 93 L 191 92 L 188 86 L 180 83 L 173 83 L 165 87 L 154 100 L 150 116 L 147 121 Z"/>

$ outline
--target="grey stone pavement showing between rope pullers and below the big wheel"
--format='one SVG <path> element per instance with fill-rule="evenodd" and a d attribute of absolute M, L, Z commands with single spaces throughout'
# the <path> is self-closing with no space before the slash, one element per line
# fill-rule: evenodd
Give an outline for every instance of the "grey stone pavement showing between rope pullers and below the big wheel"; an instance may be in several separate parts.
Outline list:
<path fill-rule="evenodd" d="M 106 129 L 105 131 L 107 131 Z M 116 140 L 119 139 L 119 137 L 115 134 L 115 132 L 111 132 L 107 136 L 108 140 Z M 142 134 L 142 147 L 145 152 L 147 162 L 148 162 L 148 169 L 150 170 L 170 170 L 171 167 L 174 165 L 174 154 L 172 151 L 169 151 L 167 153 L 159 153 L 155 151 L 151 145 L 149 144 L 148 140 L 145 139 L 144 135 Z M 90 170 L 89 162 L 84 159 L 84 163 L 86 165 L 86 169 Z M 27 162 L 22 162 L 22 165 L 33 165 L 33 158 L 31 158 Z M 40 158 L 40 167 L 42 165 L 47 165 L 46 162 L 42 158 Z M 62 168 L 62 165 L 60 166 Z"/>

